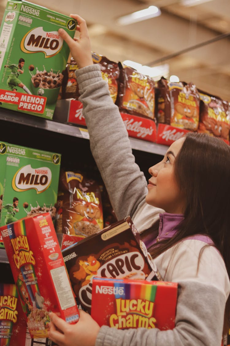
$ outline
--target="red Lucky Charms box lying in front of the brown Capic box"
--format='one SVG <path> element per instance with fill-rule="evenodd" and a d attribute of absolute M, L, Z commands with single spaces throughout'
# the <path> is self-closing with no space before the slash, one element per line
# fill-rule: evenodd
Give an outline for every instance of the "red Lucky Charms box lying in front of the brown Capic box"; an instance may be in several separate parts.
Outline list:
<path fill-rule="evenodd" d="M 177 283 L 93 278 L 91 316 L 117 329 L 175 326 Z"/>

